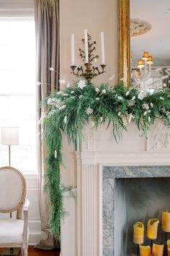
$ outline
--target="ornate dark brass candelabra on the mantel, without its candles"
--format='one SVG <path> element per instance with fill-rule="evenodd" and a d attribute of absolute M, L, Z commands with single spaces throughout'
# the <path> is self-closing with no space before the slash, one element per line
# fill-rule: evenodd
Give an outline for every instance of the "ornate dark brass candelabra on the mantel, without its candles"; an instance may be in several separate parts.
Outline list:
<path fill-rule="evenodd" d="M 84 42 L 84 39 L 81 40 Z M 99 56 L 98 55 L 94 55 L 94 51 L 96 50 L 96 47 L 94 46 L 96 44 L 96 41 L 94 41 L 93 43 L 91 43 L 91 35 L 88 34 L 88 54 L 89 54 L 89 62 L 88 63 L 84 63 L 84 67 L 76 67 L 75 65 L 71 66 L 72 69 L 72 74 L 75 74 L 76 77 L 84 77 L 87 82 L 91 83 L 91 80 L 93 79 L 93 77 L 97 77 L 99 74 L 103 74 L 104 69 L 107 65 L 105 64 L 100 64 L 101 67 L 101 71 L 99 70 L 99 67 L 94 67 L 91 62 L 94 61 L 94 59 L 98 59 Z M 80 51 L 80 56 L 82 61 L 86 62 L 86 54 L 85 51 L 81 50 L 81 48 L 79 48 Z"/>

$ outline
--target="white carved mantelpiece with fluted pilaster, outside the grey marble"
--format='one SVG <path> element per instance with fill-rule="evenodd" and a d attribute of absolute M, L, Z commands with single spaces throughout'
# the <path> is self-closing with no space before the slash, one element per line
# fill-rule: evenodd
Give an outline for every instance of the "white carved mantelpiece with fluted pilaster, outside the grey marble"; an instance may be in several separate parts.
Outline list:
<path fill-rule="evenodd" d="M 108 236 L 103 230 L 103 221 L 106 221 L 103 219 L 102 210 L 103 169 L 106 168 L 105 166 L 109 168 L 114 168 L 114 166 L 170 166 L 169 130 L 158 123 L 151 128 L 148 140 L 146 140 L 139 136 L 135 126 L 129 124 L 128 132 L 123 132 L 122 142 L 117 145 L 112 136 L 111 127 L 106 131 L 106 128 L 101 126 L 96 131 L 89 124 L 84 132 L 81 153 L 77 152 L 76 158 L 75 255 L 113 256 L 112 248 L 109 248 L 106 242 Z M 164 172 L 164 168 L 162 170 Z M 161 174 L 155 172 L 155 175 L 162 176 L 163 172 Z M 133 175 L 138 176 L 138 171 L 133 171 Z"/>

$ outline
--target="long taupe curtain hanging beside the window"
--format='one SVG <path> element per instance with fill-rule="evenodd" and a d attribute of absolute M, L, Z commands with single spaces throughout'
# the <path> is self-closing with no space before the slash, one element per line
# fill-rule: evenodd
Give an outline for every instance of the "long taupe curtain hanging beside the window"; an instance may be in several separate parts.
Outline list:
<path fill-rule="evenodd" d="M 37 159 L 38 188 L 41 218 L 41 237 L 36 247 L 53 249 L 58 243 L 50 234 L 48 221 L 50 202 L 44 191 L 45 185 L 45 145 L 42 142 L 42 127 L 40 120 L 45 109 L 40 108 L 40 102 L 46 95 L 59 90 L 59 0 L 35 0 L 35 33 L 37 47 Z M 55 71 L 50 71 L 53 67 Z"/>

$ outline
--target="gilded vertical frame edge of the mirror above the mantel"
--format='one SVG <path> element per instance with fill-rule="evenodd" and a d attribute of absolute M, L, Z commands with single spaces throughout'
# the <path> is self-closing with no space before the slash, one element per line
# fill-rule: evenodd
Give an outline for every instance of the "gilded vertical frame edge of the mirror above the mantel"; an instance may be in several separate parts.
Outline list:
<path fill-rule="evenodd" d="M 130 87 L 130 0 L 119 0 L 119 77 Z"/>

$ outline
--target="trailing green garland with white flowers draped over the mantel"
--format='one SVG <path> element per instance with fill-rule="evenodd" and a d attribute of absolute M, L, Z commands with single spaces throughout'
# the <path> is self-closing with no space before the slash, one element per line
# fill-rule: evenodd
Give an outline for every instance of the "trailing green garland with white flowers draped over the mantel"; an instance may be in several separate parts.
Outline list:
<path fill-rule="evenodd" d="M 73 142 L 75 150 L 81 148 L 84 125 L 112 124 L 112 133 L 118 142 L 122 130 L 133 122 L 140 135 L 147 137 L 148 129 L 156 121 L 170 128 L 170 90 L 151 93 L 136 88 L 117 85 L 99 85 L 84 81 L 67 86 L 61 92 L 53 93 L 45 99 L 47 112 L 43 121 L 47 145 L 47 184 L 50 195 L 50 229 L 54 236 L 60 237 L 60 223 L 66 212 L 63 209 L 63 187 L 61 186 L 60 166 L 62 163 L 62 136 Z M 78 145 L 79 143 L 79 145 Z"/>

